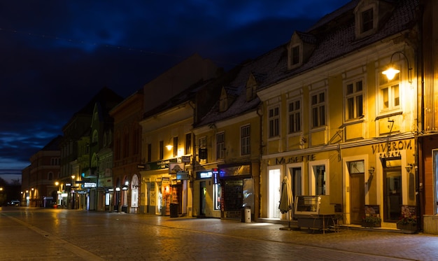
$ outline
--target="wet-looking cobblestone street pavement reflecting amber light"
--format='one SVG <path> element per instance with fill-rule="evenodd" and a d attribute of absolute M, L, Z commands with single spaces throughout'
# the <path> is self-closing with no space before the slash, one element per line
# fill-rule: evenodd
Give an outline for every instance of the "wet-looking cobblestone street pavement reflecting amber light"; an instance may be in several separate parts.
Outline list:
<path fill-rule="evenodd" d="M 0 260 L 437 260 L 438 237 L 216 218 L 9 207 Z"/>

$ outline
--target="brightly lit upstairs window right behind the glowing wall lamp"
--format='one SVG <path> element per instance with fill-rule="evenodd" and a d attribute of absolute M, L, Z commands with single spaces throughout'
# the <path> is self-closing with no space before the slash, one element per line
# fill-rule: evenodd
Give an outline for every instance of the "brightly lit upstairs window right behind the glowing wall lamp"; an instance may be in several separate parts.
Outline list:
<path fill-rule="evenodd" d="M 380 76 L 379 106 L 381 112 L 400 109 L 399 74 L 397 73 L 393 80 L 388 80 L 383 74 Z"/>

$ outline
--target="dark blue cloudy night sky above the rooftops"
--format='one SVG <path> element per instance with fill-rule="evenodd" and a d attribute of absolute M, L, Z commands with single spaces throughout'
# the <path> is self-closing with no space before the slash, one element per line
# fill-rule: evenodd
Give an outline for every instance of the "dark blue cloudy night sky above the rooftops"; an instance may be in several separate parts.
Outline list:
<path fill-rule="evenodd" d="M 14 0 L 0 3 L 0 177 L 102 87 L 127 97 L 198 53 L 226 70 L 349 0 Z"/>

